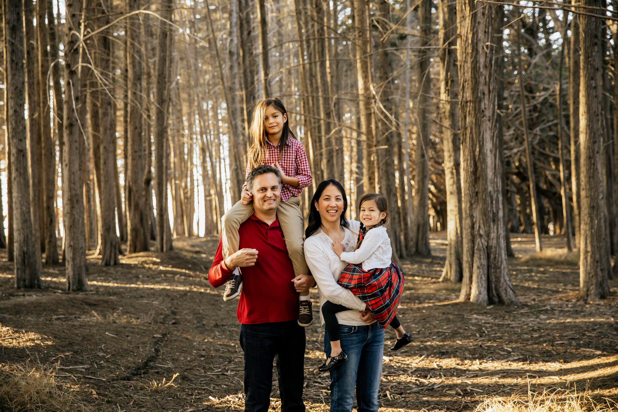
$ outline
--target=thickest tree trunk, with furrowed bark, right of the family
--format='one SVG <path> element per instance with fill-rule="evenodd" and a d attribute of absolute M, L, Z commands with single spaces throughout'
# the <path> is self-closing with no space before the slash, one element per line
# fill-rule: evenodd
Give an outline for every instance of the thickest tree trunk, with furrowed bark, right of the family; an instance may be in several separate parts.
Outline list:
<path fill-rule="evenodd" d="M 460 298 L 480 305 L 518 305 L 504 242 L 501 166 L 491 7 L 457 0 L 460 138 L 462 143 L 463 280 Z M 496 224 L 495 222 L 500 222 Z"/>

